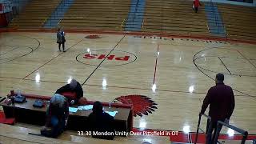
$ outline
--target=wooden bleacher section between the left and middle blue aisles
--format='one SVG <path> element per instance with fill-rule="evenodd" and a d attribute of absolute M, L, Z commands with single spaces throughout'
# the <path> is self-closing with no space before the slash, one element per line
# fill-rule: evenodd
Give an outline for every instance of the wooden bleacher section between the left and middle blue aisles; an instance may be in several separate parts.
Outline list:
<path fill-rule="evenodd" d="M 130 0 L 75 0 L 60 22 L 65 28 L 122 30 L 130 10 Z"/>

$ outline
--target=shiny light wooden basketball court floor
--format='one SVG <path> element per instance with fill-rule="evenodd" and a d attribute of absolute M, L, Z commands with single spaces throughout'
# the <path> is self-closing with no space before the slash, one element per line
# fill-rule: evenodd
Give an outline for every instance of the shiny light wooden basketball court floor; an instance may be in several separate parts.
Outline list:
<path fill-rule="evenodd" d="M 66 34 L 63 53 L 58 51 L 55 33 L 0 33 L 1 96 L 18 89 L 53 95 L 75 78 L 89 100 L 151 98 L 158 109 L 134 117 L 136 128 L 196 131 L 203 98 L 221 72 L 224 82 L 234 88 L 236 106 L 230 124 L 256 134 L 255 45 L 114 34 L 90 39 L 87 35 Z"/>

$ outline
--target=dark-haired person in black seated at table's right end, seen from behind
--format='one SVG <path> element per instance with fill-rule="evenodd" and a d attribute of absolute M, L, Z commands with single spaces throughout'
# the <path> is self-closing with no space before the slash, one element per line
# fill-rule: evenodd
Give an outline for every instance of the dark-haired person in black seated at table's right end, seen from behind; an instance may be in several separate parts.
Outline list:
<path fill-rule="evenodd" d="M 102 110 L 101 102 L 94 102 L 93 112 L 89 115 L 88 121 L 93 138 L 114 139 L 114 117 Z M 108 134 L 100 134 L 104 132 L 108 132 Z"/>

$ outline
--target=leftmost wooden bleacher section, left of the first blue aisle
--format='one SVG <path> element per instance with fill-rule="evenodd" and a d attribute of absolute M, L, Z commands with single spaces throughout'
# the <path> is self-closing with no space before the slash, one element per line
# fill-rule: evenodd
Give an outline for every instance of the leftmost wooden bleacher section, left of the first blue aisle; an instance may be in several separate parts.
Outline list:
<path fill-rule="evenodd" d="M 14 28 L 42 27 L 61 0 L 33 0 L 10 23 Z"/>

